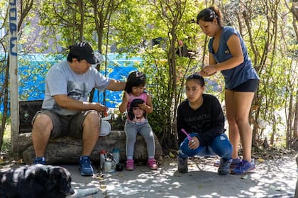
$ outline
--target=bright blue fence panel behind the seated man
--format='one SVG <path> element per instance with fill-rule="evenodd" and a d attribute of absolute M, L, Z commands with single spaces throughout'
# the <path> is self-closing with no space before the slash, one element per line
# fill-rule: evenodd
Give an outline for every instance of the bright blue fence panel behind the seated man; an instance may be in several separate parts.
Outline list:
<path fill-rule="evenodd" d="M 18 95 L 19 100 L 31 101 L 44 99 L 45 92 L 45 75 L 50 67 L 55 62 L 66 60 L 66 57 L 62 55 L 18 55 Z M 126 58 L 126 55 L 108 54 L 107 55 L 107 76 L 125 80 L 129 72 L 136 70 L 135 65 L 141 65 L 143 63 L 140 57 Z M 102 70 L 102 68 L 101 68 Z M 105 72 L 101 72 L 105 75 Z M 4 76 L 1 75 L 0 82 L 3 84 Z M 3 77 L 2 77 L 3 76 Z M 0 87 L 1 87 L 0 84 Z M 116 108 L 121 103 L 121 97 L 123 92 L 111 92 L 106 90 L 106 106 L 109 108 Z M 3 99 L 0 99 L 3 101 Z M 94 92 L 93 101 L 104 103 L 104 92 L 96 90 Z M 3 112 L 4 106 L 1 102 L 0 111 Z"/>

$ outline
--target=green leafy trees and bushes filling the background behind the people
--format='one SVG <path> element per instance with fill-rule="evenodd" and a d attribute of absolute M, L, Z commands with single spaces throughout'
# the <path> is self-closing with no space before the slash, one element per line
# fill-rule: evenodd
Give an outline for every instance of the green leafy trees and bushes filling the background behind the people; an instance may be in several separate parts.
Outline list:
<path fill-rule="evenodd" d="M 22 1 L 23 2 L 23 1 Z M 95 4 L 94 4 L 95 3 Z M 148 77 L 147 89 L 153 97 L 154 111 L 149 115 L 153 130 L 160 140 L 175 142 L 175 109 L 184 99 L 184 79 L 197 72 L 208 62 L 206 43 L 208 39 L 196 23 L 197 13 L 211 4 L 219 6 L 224 21 L 238 29 L 248 48 L 250 58 L 260 76 L 260 86 L 253 106 L 252 123 L 255 133 L 262 136 L 263 130 L 256 121 L 263 119 L 278 130 L 277 125 L 285 124 L 289 97 L 297 94 L 297 35 L 292 26 L 287 2 L 281 1 L 83 1 L 83 7 L 77 1 L 48 0 L 34 4 L 32 12 L 23 21 L 20 30 L 20 52 L 42 53 L 46 48 L 53 53 L 65 54 L 65 48 L 77 40 L 87 40 L 94 49 L 109 53 L 111 45 L 116 45 L 119 53 L 143 57 L 143 65 L 138 70 Z M 0 0 L 4 21 L 4 10 L 8 3 Z M 81 12 L 83 11 L 83 12 Z M 34 24 L 31 18 L 39 17 Z M 1 20 L 2 19 L 2 20 Z M 82 20 L 81 20 L 82 19 Z M 1 26 L 7 32 L 8 23 Z M 39 35 L 35 35 L 39 31 Z M 160 45 L 152 46 L 152 40 L 160 39 Z M 31 40 L 31 43 L 28 43 Z M 33 44 L 43 41 L 43 48 L 32 48 Z M 182 40 L 195 55 L 192 59 L 175 55 L 177 41 Z M 8 38 L 0 39 L 8 46 Z M 60 47 L 62 46 L 62 48 Z M 28 65 L 20 60 L 21 65 Z M 114 62 L 115 66 L 117 62 Z M 101 65 L 99 70 L 105 69 Z M 20 75 L 20 85 L 28 81 L 37 81 L 40 67 L 36 65 L 31 75 Z M 2 71 L 1 71 L 2 72 Z M 106 72 L 110 72 L 107 70 Z M 216 74 L 206 78 L 216 81 L 224 87 L 223 77 Z M 33 87 L 38 89 L 38 87 Z M 223 92 L 213 92 L 223 101 Z M 32 94 L 28 90 L 29 96 Z M 295 97 L 294 97 L 295 98 Z M 26 99 L 26 97 L 22 98 Z M 294 101 L 297 102 L 297 101 Z M 294 106 L 292 104 L 292 106 Z M 123 117 L 117 119 L 123 124 Z M 170 135 L 169 135 L 170 134 Z M 174 141 L 172 139 L 174 138 Z"/>

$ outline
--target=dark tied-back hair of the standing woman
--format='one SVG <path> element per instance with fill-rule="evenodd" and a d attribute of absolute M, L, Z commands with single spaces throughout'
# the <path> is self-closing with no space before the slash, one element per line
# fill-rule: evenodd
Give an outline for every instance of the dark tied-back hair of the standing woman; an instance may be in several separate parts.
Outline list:
<path fill-rule="evenodd" d="M 216 18 L 219 26 L 222 26 L 221 17 L 221 11 L 216 9 L 214 6 L 211 6 L 208 9 L 204 9 L 198 13 L 197 23 L 199 24 L 200 20 L 212 22 L 214 18 Z"/>

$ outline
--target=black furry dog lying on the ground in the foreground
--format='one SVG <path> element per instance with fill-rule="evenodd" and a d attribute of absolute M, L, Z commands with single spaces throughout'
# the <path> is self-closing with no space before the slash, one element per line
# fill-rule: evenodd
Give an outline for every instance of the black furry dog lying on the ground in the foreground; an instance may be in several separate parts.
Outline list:
<path fill-rule="evenodd" d="M 52 165 L 26 165 L 0 171 L 1 198 L 64 198 L 74 194 L 70 172 Z"/>

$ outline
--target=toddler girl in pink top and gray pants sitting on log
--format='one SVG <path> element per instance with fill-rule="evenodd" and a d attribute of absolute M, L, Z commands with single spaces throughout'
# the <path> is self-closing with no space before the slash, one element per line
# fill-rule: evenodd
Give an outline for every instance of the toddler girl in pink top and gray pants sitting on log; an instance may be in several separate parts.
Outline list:
<path fill-rule="evenodd" d="M 127 111 L 128 116 L 124 126 L 126 133 L 126 170 L 133 170 L 133 150 L 136 136 L 143 136 L 148 151 L 148 166 L 157 170 L 155 160 L 154 135 L 146 114 L 153 112 L 150 95 L 145 92 L 146 77 L 142 72 L 131 72 L 126 82 L 123 101 L 119 106 L 121 113 Z"/>

